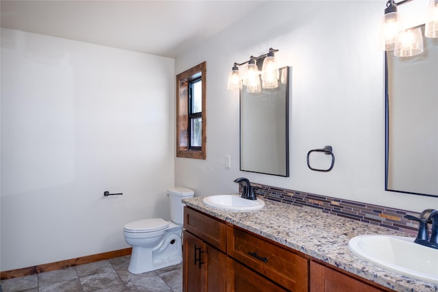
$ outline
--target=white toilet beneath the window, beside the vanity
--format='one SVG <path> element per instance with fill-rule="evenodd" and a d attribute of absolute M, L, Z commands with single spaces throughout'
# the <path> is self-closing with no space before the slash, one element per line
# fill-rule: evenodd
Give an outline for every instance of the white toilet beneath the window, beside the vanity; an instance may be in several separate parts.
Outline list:
<path fill-rule="evenodd" d="M 184 198 L 193 198 L 194 191 L 185 187 L 170 187 L 170 219 L 152 218 L 130 222 L 123 227 L 125 241 L 132 246 L 128 271 L 146 271 L 177 265 L 183 261 L 181 233 L 183 230 Z"/>

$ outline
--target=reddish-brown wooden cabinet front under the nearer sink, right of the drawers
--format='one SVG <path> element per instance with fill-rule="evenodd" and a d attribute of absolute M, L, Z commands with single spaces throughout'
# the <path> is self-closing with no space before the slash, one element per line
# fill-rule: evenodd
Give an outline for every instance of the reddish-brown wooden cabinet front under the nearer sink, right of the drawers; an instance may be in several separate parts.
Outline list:
<path fill-rule="evenodd" d="M 377 289 L 329 267 L 315 262 L 310 263 L 310 292 L 381 292 Z"/>

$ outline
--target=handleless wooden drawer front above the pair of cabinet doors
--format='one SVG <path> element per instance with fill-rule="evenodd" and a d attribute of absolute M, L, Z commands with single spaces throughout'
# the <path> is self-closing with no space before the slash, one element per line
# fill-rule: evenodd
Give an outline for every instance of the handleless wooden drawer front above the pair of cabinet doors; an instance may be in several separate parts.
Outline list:
<path fill-rule="evenodd" d="M 227 225 L 224 222 L 184 207 L 184 228 L 222 252 L 227 251 Z"/>

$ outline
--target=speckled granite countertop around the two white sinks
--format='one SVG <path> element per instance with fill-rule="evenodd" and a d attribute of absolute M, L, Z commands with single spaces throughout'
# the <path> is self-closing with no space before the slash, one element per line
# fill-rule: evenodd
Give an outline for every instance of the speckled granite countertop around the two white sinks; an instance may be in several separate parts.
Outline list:
<path fill-rule="evenodd" d="M 269 200 L 263 201 L 265 201 L 265 207 L 256 211 L 228 211 L 207 206 L 203 203 L 203 198 L 183 199 L 188 207 L 313 256 L 313 258 L 318 258 L 384 287 L 400 292 L 438 291 L 438 284 L 387 271 L 363 261 L 348 249 L 348 241 L 357 235 L 407 236 L 406 233 L 348 220 L 321 211 Z"/>

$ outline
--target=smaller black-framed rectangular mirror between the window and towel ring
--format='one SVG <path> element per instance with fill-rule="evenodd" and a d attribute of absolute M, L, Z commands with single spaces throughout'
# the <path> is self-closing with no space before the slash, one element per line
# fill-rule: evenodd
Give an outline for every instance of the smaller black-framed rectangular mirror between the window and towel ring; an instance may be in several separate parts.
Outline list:
<path fill-rule="evenodd" d="M 240 170 L 289 176 L 289 67 L 278 88 L 240 90 Z"/>

